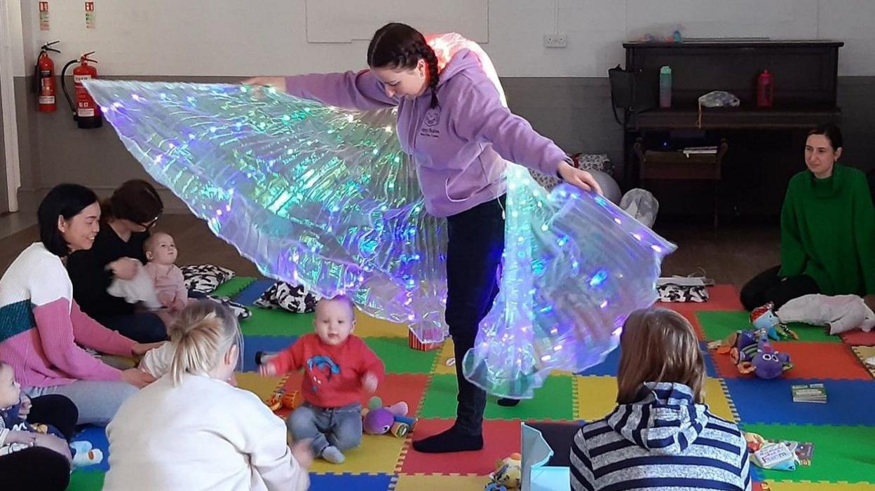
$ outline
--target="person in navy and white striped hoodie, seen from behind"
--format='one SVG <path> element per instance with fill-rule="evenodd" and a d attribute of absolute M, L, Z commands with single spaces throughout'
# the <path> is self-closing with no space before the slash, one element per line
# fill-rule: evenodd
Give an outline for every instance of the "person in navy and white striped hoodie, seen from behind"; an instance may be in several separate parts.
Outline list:
<path fill-rule="evenodd" d="M 620 336 L 617 407 L 571 446 L 571 488 L 750 490 L 738 425 L 704 404 L 696 333 L 666 308 L 635 311 Z"/>

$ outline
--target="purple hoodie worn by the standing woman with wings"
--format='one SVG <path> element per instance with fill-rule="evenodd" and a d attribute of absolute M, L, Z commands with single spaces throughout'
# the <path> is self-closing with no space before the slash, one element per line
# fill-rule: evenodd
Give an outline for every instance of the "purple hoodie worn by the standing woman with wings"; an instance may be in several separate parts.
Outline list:
<path fill-rule="evenodd" d="M 416 99 L 389 97 L 370 70 L 288 77 L 288 93 L 330 106 L 367 111 L 398 107 L 398 140 L 416 163 L 425 207 L 449 217 L 504 194 L 505 160 L 556 175 L 565 158 L 553 141 L 538 135 L 501 105 L 498 90 L 479 58 L 460 50 L 431 89 Z M 503 159 L 502 159 L 503 157 Z"/>

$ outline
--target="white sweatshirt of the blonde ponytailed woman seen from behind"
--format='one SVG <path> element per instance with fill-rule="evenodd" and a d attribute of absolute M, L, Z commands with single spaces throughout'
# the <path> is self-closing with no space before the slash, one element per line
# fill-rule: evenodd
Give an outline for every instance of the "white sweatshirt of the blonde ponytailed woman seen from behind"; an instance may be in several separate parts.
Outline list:
<path fill-rule="evenodd" d="M 304 491 L 283 420 L 252 392 L 170 375 L 124 402 L 107 426 L 105 491 Z"/>

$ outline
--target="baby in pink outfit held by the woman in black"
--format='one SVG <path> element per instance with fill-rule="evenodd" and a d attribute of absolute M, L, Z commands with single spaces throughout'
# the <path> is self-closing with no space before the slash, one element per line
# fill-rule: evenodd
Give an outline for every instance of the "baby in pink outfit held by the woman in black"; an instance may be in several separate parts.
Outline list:
<path fill-rule="evenodd" d="M 146 272 L 155 283 L 158 301 L 171 313 L 177 313 L 186 307 L 188 289 L 182 270 L 176 266 L 176 243 L 165 232 L 155 232 L 143 245 L 146 252 Z"/>

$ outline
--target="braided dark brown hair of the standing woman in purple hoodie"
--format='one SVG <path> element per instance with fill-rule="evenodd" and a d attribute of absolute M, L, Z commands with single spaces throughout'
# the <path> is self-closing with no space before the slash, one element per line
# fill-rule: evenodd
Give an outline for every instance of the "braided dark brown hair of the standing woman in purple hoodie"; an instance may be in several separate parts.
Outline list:
<path fill-rule="evenodd" d="M 425 42 L 422 32 L 407 24 L 392 22 L 374 32 L 374 38 L 367 45 L 367 66 L 372 68 L 410 70 L 420 59 L 425 60 L 429 68 L 430 107 L 437 107 L 437 55 Z"/>

